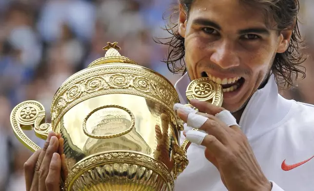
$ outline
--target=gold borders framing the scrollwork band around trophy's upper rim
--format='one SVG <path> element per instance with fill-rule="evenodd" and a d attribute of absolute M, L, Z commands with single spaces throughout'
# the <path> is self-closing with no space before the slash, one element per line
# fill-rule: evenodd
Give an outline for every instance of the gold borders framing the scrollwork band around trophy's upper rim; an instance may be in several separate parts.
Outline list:
<path fill-rule="evenodd" d="M 140 90 L 132 90 L 132 89 L 127 89 L 127 88 L 125 88 L 125 89 L 118 89 L 117 88 L 117 89 L 101 90 L 101 91 L 98 91 L 96 93 L 80 92 L 80 95 L 77 98 L 75 98 L 75 100 L 72 100 L 69 103 L 67 103 L 67 106 L 65 108 L 60 109 L 59 113 L 55 113 L 54 110 L 55 110 L 55 108 L 57 108 L 57 104 L 58 104 L 57 101 L 59 100 L 59 98 L 64 96 L 64 94 L 66 94 L 66 91 L 69 88 L 73 88 L 74 86 L 78 86 L 78 83 L 80 83 L 84 80 L 87 80 L 87 79 L 91 79 L 92 77 L 97 77 L 99 75 L 113 75 L 113 74 L 117 74 L 117 73 L 118 74 L 134 73 L 135 75 L 138 75 L 139 77 L 149 78 L 152 81 L 161 85 L 160 87 L 162 87 L 167 92 L 169 97 L 172 97 L 173 99 L 172 100 L 168 99 L 168 100 L 166 100 L 166 103 L 164 103 L 164 101 L 161 102 L 161 101 L 159 101 L 159 99 L 157 99 L 153 96 L 146 95 L 147 94 L 146 92 L 141 93 Z M 78 87 L 75 87 L 75 88 L 78 88 Z M 175 103 L 178 103 L 179 99 L 178 99 L 177 92 L 176 92 L 174 86 L 171 84 L 171 82 L 168 79 L 166 79 L 162 75 L 158 74 L 157 72 L 154 72 L 150 69 L 146 69 L 146 68 L 141 67 L 141 66 L 130 65 L 130 64 L 112 63 L 112 64 L 108 64 L 106 67 L 95 66 L 92 68 L 82 70 L 82 71 L 76 73 L 75 75 L 71 76 L 70 78 L 68 78 L 61 85 L 61 87 L 59 88 L 59 90 L 55 94 L 53 101 L 52 101 L 52 105 L 51 105 L 53 129 L 55 130 L 56 126 L 59 123 L 60 118 L 69 109 L 71 109 L 73 106 L 75 106 L 79 102 L 84 101 L 84 100 L 89 99 L 89 98 L 94 97 L 94 96 L 115 94 L 115 92 L 118 94 L 123 93 L 123 94 L 139 95 L 139 96 L 149 98 L 153 101 L 157 101 L 159 104 L 161 104 L 162 106 L 167 108 L 174 116 L 176 116 L 174 111 L 173 111 L 173 108 L 170 106 L 174 105 Z"/>

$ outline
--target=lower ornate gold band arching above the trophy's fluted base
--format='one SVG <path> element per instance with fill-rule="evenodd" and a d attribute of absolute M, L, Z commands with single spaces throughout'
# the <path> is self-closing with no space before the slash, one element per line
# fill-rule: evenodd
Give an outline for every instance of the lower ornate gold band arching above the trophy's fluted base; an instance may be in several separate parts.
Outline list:
<path fill-rule="evenodd" d="M 67 188 L 67 191 L 71 191 L 74 182 L 84 172 L 102 164 L 112 163 L 130 163 L 147 167 L 151 170 L 154 170 L 154 172 L 159 174 L 165 180 L 165 182 L 168 183 L 169 190 L 172 191 L 174 189 L 174 178 L 163 163 L 160 163 L 151 156 L 145 155 L 143 153 L 117 151 L 93 154 L 77 162 L 71 169 L 65 181 L 65 187 Z"/>

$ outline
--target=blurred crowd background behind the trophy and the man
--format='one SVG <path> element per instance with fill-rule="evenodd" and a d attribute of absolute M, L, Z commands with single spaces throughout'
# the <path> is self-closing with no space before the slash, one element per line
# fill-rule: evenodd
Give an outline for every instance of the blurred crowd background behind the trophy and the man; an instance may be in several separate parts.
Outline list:
<path fill-rule="evenodd" d="M 161 62 L 168 37 L 162 15 L 177 0 L 0 0 L 0 191 L 23 191 L 23 164 L 32 154 L 14 137 L 9 115 L 18 103 L 34 99 L 50 115 L 60 84 L 118 41 L 120 53 L 166 76 Z M 314 104 L 314 1 L 300 0 L 300 29 L 306 40 L 307 77 L 283 91 L 289 99 Z M 48 119 L 49 120 L 49 119 Z M 27 133 L 38 145 L 43 141 Z"/>

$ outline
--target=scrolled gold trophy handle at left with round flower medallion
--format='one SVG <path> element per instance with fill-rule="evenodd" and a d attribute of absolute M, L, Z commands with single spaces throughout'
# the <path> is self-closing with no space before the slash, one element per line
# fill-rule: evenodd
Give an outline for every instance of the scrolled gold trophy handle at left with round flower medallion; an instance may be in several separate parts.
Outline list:
<path fill-rule="evenodd" d="M 52 130 L 50 123 L 45 123 L 45 109 L 37 101 L 29 100 L 15 106 L 10 115 L 11 126 L 19 141 L 32 152 L 40 149 L 23 130 L 34 130 L 36 136 L 47 139 Z"/>

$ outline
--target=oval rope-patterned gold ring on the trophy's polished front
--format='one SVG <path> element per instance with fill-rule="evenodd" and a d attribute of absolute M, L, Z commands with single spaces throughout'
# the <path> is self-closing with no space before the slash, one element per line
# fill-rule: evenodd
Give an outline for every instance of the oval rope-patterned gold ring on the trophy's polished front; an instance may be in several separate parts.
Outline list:
<path fill-rule="evenodd" d="M 88 118 L 93 115 L 95 112 L 101 110 L 101 109 L 105 109 L 105 108 L 118 108 L 118 109 L 122 109 L 124 111 L 126 111 L 130 116 L 131 116 L 131 126 L 121 132 L 121 133 L 118 133 L 118 134 L 111 134 L 111 135 L 95 135 L 95 134 L 91 134 L 87 131 L 86 129 L 86 122 L 88 120 Z M 132 129 L 135 127 L 135 117 L 134 115 L 132 114 L 132 112 L 125 108 L 125 107 L 122 107 L 122 106 L 119 106 L 119 105 L 105 105 L 105 106 L 102 106 L 102 107 L 98 107 L 96 108 L 95 110 L 93 110 L 91 113 L 89 113 L 85 119 L 83 120 L 83 131 L 84 131 L 84 134 L 86 134 L 87 136 L 91 137 L 91 138 L 96 138 L 96 139 L 107 139 L 107 138 L 115 138 L 115 137 L 118 137 L 118 136 L 122 136 L 124 134 L 128 134 L 130 131 L 132 131 Z"/>

